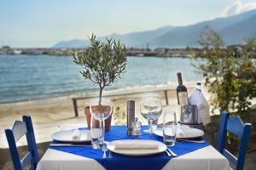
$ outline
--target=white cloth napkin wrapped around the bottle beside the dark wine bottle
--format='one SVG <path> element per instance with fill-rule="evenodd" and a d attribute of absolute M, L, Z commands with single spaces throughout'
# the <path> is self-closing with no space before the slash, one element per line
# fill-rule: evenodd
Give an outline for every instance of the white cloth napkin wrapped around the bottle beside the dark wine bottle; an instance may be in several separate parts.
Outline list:
<path fill-rule="evenodd" d="M 190 105 L 197 105 L 198 109 L 198 122 L 203 123 L 203 125 L 207 125 L 211 122 L 210 117 L 210 106 L 207 103 L 207 99 L 201 92 L 195 90 L 193 94 L 189 97 Z"/>

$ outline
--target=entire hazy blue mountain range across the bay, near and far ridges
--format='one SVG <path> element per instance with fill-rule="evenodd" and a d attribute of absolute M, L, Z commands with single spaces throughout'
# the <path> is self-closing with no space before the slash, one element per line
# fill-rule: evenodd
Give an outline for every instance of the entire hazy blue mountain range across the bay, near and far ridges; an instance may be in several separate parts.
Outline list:
<path fill-rule="evenodd" d="M 201 31 L 207 25 L 218 31 L 227 44 L 238 44 L 242 42 L 244 37 L 256 36 L 256 10 L 189 26 L 165 26 L 153 31 L 131 32 L 122 35 L 112 34 L 107 37 L 119 39 L 129 47 L 135 48 L 145 48 L 147 43 L 149 48 L 198 46 L 197 41 Z M 99 39 L 103 38 L 99 37 Z M 58 42 L 54 48 L 84 48 L 88 45 L 87 40 L 72 40 Z"/>

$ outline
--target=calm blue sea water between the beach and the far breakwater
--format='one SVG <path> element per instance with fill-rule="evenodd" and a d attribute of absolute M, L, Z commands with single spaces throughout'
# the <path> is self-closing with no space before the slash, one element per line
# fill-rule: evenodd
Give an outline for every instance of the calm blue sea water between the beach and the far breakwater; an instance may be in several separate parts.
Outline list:
<path fill-rule="evenodd" d="M 0 55 L 0 102 L 65 96 L 98 90 L 79 73 L 79 66 L 67 56 Z M 176 82 L 177 71 L 184 81 L 202 77 L 190 59 L 129 57 L 122 79 L 106 89 Z"/>

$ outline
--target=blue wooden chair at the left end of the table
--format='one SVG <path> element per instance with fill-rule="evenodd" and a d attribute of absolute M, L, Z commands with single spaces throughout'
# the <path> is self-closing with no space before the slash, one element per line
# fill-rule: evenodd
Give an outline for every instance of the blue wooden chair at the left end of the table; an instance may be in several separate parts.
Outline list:
<path fill-rule="evenodd" d="M 35 140 L 32 120 L 30 116 L 22 116 L 22 121 L 15 121 L 12 129 L 6 129 L 5 135 L 9 144 L 9 151 L 12 157 L 15 170 L 22 170 L 30 162 L 29 170 L 35 170 L 38 165 L 38 150 Z M 26 134 L 28 153 L 20 160 L 16 142 Z"/>

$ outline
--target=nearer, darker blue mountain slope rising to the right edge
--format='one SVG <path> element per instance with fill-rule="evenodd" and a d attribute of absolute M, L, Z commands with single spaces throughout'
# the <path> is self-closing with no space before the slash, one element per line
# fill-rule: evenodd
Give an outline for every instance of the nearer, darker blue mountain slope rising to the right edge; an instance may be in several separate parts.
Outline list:
<path fill-rule="evenodd" d="M 256 10 L 227 18 L 219 18 L 191 26 L 178 26 L 149 42 L 151 47 L 198 46 L 201 31 L 211 26 L 224 38 L 227 44 L 241 43 L 244 37 L 256 36 Z"/>

